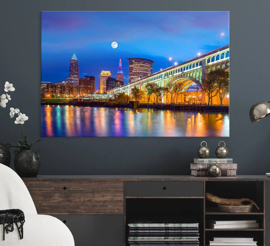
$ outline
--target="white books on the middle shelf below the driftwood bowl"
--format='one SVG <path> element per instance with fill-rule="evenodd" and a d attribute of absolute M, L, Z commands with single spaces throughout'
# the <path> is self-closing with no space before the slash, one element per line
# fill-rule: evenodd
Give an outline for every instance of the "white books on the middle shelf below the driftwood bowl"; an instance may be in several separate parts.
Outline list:
<path fill-rule="evenodd" d="M 258 228 L 259 223 L 256 220 L 208 220 L 207 225 L 214 229 L 224 229 L 224 228 Z"/>

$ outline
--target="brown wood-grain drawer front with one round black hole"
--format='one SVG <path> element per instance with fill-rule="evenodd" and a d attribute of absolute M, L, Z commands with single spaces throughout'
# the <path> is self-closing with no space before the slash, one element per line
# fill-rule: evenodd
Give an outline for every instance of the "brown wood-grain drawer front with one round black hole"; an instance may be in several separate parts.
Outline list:
<path fill-rule="evenodd" d="M 25 181 L 38 213 L 123 214 L 122 181 Z"/>

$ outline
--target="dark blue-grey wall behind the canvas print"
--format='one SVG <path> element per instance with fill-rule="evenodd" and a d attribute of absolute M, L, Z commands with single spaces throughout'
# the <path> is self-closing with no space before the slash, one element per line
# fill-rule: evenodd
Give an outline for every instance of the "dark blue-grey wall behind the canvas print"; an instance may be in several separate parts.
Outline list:
<path fill-rule="evenodd" d="M 189 174 L 203 140 L 213 157 L 224 140 L 238 174 L 270 171 L 270 118 L 249 120 L 251 105 L 270 99 L 269 1 L 2 0 L 0 9 L 0 88 L 6 80 L 15 85 L 11 104 L 26 109 L 24 132 L 30 140 L 40 139 L 40 11 L 230 11 L 229 138 L 42 138 L 35 146 L 42 152 L 40 174 Z M 0 141 L 15 144 L 20 127 L 8 109 L 0 113 Z"/>

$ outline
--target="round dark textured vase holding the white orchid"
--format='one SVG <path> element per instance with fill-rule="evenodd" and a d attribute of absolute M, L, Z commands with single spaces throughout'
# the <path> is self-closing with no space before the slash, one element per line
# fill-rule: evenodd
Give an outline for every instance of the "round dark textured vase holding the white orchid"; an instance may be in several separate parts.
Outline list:
<path fill-rule="evenodd" d="M 39 154 L 37 150 L 15 150 L 14 166 L 20 177 L 36 177 L 40 169 Z"/>

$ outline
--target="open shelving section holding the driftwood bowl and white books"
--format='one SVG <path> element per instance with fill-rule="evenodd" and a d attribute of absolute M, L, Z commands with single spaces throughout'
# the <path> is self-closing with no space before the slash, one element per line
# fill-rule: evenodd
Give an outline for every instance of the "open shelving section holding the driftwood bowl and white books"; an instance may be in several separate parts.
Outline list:
<path fill-rule="evenodd" d="M 254 206 L 248 213 L 229 213 L 218 211 L 217 204 L 205 198 L 205 244 L 214 237 L 254 237 L 257 245 L 264 245 L 264 182 L 263 181 L 206 181 L 205 195 L 209 192 L 215 196 L 228 199 L 248 198 L 259 206 Z M 256 220 L 259 228 L 223 228 L 208 226 L 208 220 Z"/>

